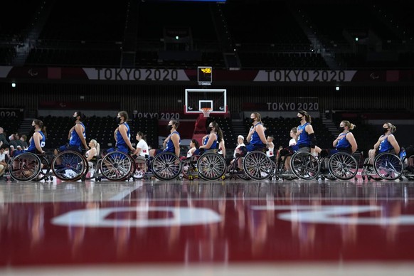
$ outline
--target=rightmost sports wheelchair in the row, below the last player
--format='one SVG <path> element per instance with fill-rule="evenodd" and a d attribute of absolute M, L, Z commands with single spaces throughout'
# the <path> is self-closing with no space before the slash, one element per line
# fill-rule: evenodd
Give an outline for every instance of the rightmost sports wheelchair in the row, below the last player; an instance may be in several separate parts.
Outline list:
<path fill-rule="evenodd" d="M 403 161 L 399 156 L 390 152 L 382 152 L 375 156 L 373 164 L 369 158 L 363 161 L 361 177 L 363 180 L 365 178 L 368 180 L 402 180 L 403 169 Z"/>

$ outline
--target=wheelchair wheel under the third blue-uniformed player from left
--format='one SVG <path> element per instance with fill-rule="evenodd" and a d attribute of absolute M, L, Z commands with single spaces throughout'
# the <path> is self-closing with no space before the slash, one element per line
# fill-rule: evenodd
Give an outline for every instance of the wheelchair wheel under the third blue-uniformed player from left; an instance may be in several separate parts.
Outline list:
<path fill-rule="evenodd" d="M 135 162 L 124 152 L 109 152 L 100 162 L 100 172 L 108 180 L 124 181 L 128 179 L 135 169 Z"/>

